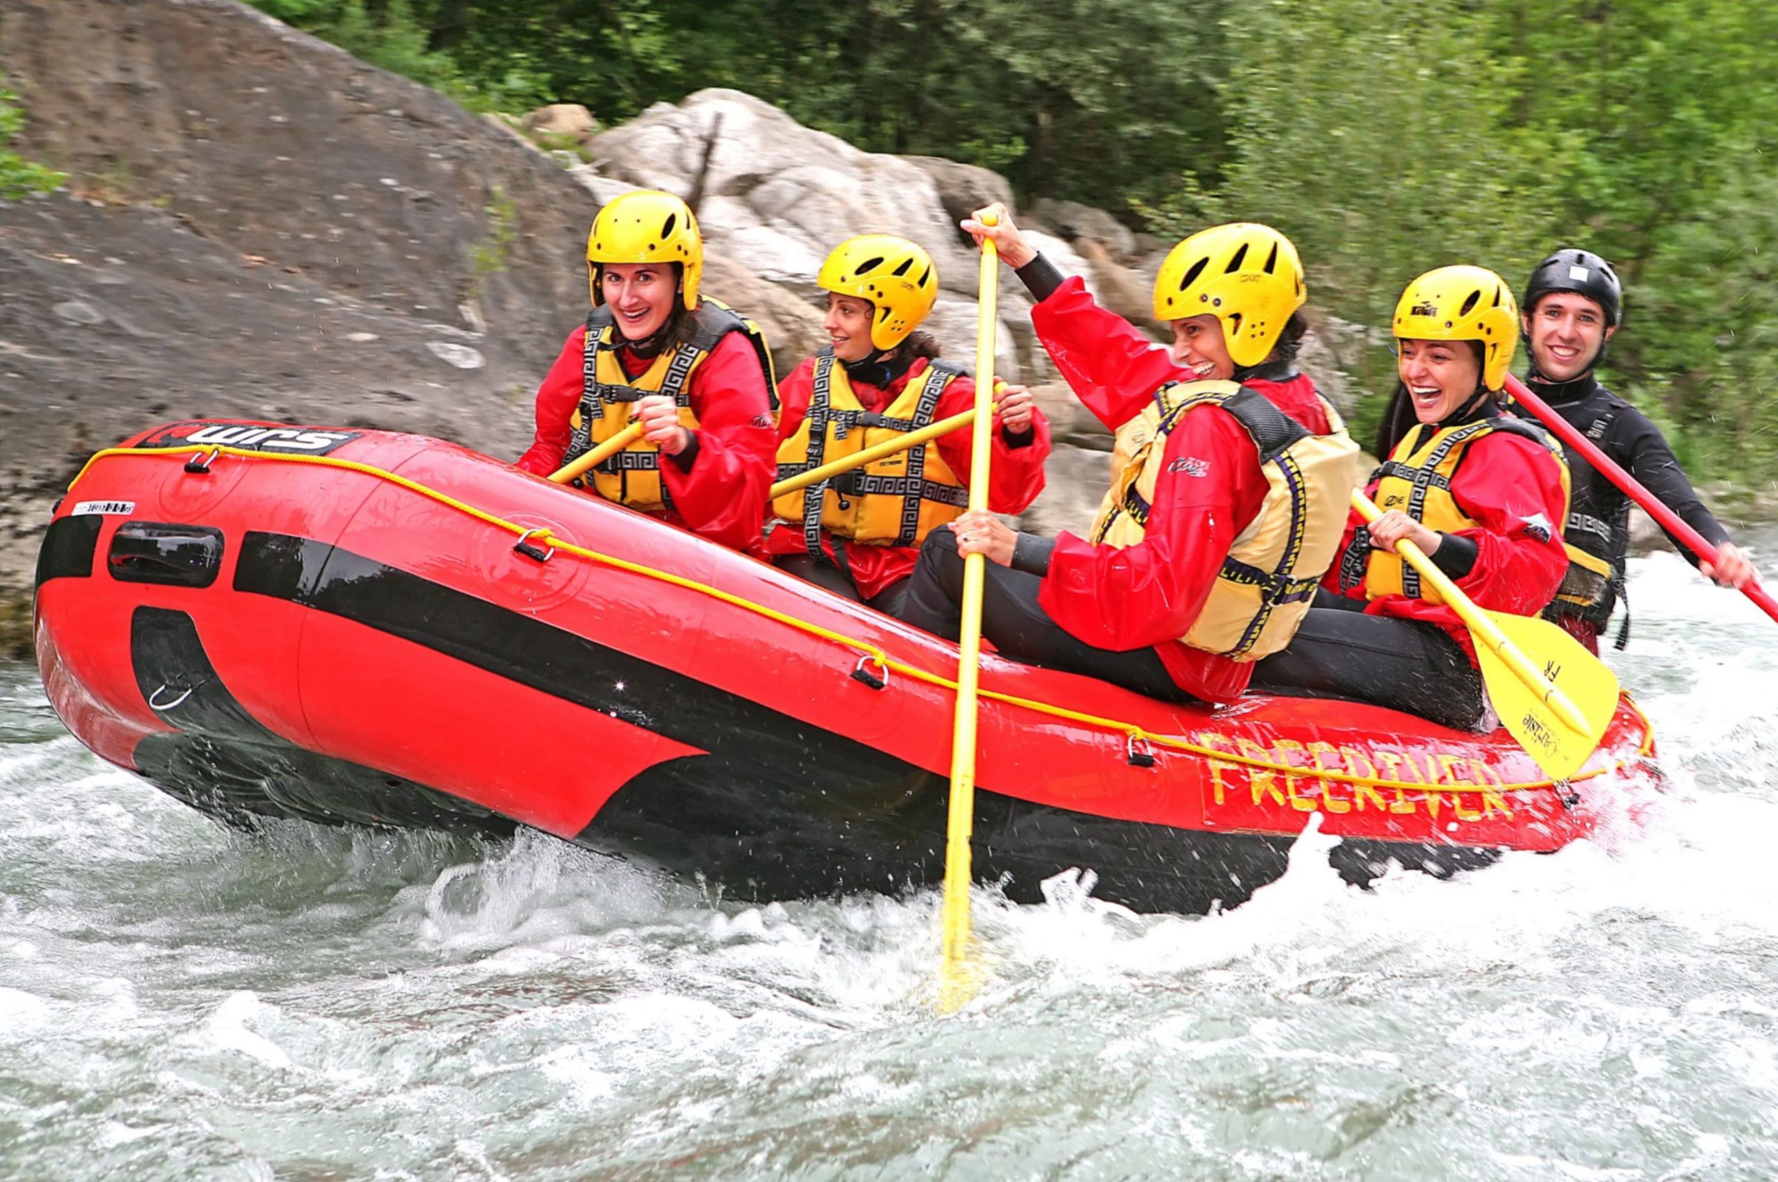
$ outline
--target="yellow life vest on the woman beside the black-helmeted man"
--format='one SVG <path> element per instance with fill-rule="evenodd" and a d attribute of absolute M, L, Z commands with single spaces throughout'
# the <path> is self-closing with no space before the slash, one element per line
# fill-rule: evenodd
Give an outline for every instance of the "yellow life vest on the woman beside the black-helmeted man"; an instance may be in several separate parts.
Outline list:
<path fill-rule="evenodd" d="M 1550 530 L 1568 512 L 1568 464 L 1561 448 L 1542 427 L 1508 416 L 1492 416 L 1456 427 L 1433 428 L 1419 425 L 1410 430 L 1396 450 L 1389 453 L 1378 467 L 1376 505 L 1389 512 L 1399 508 L 1428 530 L 1438 533 L 1456 533 L 1474 530 L 1479 523 L 1463 512 L 1463 507 L 1451 496 L 1451 478 L 1458 464 L 1474 443 L 1494 432 L 1522 435 L 1549 448 L 1561 467 L 1563 512 L 1550 523 Z M 1401 560 L 1382 549 L 1371 549 L 1367 530 L 1357 530 L 1346 555 L 1341 560 L 1341 587 L 1364 585 L 1366 599 L 1383 595 L 1406 595 L 1426 603 L 1444 603 L 1431 587 L 1421 583 L 1421 576 Z"/>

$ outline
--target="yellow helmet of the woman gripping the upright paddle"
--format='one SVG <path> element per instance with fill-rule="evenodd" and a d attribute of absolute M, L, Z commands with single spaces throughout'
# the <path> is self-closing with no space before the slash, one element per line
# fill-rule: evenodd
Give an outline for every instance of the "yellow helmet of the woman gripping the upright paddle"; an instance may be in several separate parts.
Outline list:
<path fill-rule="evenodd" d="M 1173 247 L 1154 277 L 1154 318 L 1214 315 L 1229 359 L 1255 366 L 1303 300 L 1303 261 L 1271 226 L 1211 226 Z"/>

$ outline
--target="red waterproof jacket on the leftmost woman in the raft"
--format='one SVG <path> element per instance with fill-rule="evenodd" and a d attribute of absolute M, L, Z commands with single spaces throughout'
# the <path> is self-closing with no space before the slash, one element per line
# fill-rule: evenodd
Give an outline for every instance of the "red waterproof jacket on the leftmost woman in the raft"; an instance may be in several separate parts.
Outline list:
<path fill-rule="evenodd" d="M 585 380 L 585 325 L 569 332 L 562 355 L 537 389 L 537 441 L 517 466 L 548 476 L 567 455 L 569 419 Z M 638 377 L 653 359 L 617 350 L 624 373 Z M 692 371 L 686 387 L 697 430 L 692 446 L 661 459 L 661 480 L 676 512 L 667 521 L 733 549 L 757 546 L 766 492 L 777 476 L 777 432 L 759 355 L 740 332 L 729 332 Z M 590 489 L 589 489 L 590 492 Z"/>

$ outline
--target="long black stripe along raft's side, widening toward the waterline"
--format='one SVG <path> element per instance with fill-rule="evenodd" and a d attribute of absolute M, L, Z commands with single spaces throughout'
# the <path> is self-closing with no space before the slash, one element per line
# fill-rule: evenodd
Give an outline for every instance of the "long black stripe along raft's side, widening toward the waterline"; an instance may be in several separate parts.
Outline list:
<path fill-rule="evenodd" d="M 581 844 L 642 851 L 681 875 L 720 883 L 729 898 L 896 890 L 942 876 L 944 779 L 852 738 L 309 539 L 247 533 L 235 590 L 400 636 L 704 752 L 633 777 L 576 837 Z M 846 684 L 836 672 L 836 691 Z M 578 736 L 549 738 L 573 743 Z M 523 759 L 523 750 L 516 739 L 514 757 Z M 597 761 L 599 750 L 589 745 L 589 768 Z M 1099 878 L 1097 898 L 1179 912 L 1236 906 L 1284 873 L 1291 846 L 1287 837 L 1033 805 L 990 786 L 976 795 L 974 832 L 976 878 L 1006 875 L 1006 894 L 1017 901 L 1040 899 L 1044 878 L 1086 866 Z M 1437 871 L 1451 855 L 1478 855 L 1364 846 L 1364 862 L 1348 857 L 1351 866 L 1341 866 L 1350 882 L 1374 876 L 1371 860 L 1394 857 Z"/>

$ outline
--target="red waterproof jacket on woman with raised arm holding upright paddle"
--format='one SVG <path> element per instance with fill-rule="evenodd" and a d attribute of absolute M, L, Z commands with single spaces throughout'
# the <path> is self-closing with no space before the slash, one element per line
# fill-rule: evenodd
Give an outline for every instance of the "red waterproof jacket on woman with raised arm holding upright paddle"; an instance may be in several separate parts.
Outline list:
<path fill-rule="evenodd" d="M 1101 307 L 1079 277 L 1037 304 L 1031 323 L 1079 400 L 1113 430 L 1141 412 L 1161 384 L 1197 380 L 1163 347 Z M 1245 384 L 1307 430 L 1330 430 L 1307 377 Z M 1236 537 L 1259 515 L 1266 475 L 1253 439 L 1221 407 L 1188 412 L 1166 437 L 1166 460 L 1143 540 L 1115 549 L 1063 531 L 1038 606 L 1090 645 L 1120 652 L 1152 645 L 1181 690 L 1205 702 L 1232 702 L 1246 690 L 1253 665 L 1193 649 L 1179 636 L 1204 610 Z"/>

